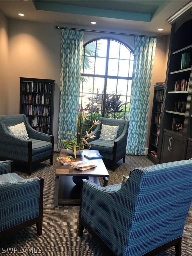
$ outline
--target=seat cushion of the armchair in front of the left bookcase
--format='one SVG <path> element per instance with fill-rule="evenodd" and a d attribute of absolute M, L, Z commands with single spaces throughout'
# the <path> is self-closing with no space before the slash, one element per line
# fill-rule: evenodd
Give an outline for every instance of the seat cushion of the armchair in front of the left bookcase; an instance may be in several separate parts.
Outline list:
<path fill-rule="evenodd" d="M 52 143 L 48 141 L 29 139 L 32 141 L 32 156 L 51 150 Z"/>

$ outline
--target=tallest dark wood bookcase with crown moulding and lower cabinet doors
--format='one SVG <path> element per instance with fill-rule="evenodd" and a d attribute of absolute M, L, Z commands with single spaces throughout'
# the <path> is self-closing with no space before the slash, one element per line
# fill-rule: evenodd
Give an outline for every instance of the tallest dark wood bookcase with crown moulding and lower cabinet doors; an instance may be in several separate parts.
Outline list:
<path fill-rule="evenodd" d="M 172 29 L 158 142 L 160 163 L 191 158 L 191 57 L 190 64 L 181 68 L 182 54 L 191 55 L 192 50 L 191 2 L 167 21 Z"/>

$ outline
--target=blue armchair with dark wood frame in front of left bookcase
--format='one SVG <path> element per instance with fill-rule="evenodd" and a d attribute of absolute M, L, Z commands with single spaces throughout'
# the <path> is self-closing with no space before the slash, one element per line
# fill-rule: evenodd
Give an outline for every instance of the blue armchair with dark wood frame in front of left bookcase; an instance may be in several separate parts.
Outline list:
<path fill-rule="evenodd" d="M 29 139 L 14 136 L 7 129 L 24 122 Z M 25 115 L 0 116 L 0 160 L 14 160 L 27 163 L 31 175 L 32 163 L 50 159 L 53 165 L 54 136 L 34 130 Z"/>

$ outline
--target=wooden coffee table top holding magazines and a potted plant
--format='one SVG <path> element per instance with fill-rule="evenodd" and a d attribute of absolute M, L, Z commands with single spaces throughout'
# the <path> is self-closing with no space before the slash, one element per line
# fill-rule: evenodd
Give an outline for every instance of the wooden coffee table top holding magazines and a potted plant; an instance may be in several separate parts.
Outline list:
<path fill-rule="evenodd" d="M 56 176 L 96 176 L 96 177 L 109 177 L 108 171 L 103 163 L 102 158 L 97 159 L 88 159 L 84 157 L 84 153 L 99 153 L 98 150 L 86 150 L 79 156 L 77 156 L 76 161 L 88 161 L 94 162 L 97 167 L 85 171 L 78 171 L 77 169 L 73 168 L 70 164 L 63 165 L 58 161 L 57 169 L 55 171 Z M 60 157 L 69 156 L 66 149 L 61 149 Z"/>

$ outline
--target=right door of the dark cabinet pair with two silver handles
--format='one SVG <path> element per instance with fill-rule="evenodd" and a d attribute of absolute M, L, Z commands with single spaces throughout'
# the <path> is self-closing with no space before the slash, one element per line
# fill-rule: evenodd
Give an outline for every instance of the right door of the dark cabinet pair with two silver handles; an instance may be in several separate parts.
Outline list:
<path fill-rule="evenodd" d="M 182 138 L 171 135 L 170 140 L 171 162 L 182 160 Z"/>

